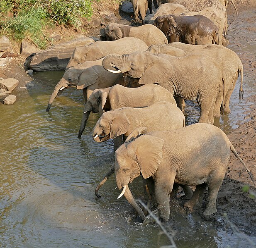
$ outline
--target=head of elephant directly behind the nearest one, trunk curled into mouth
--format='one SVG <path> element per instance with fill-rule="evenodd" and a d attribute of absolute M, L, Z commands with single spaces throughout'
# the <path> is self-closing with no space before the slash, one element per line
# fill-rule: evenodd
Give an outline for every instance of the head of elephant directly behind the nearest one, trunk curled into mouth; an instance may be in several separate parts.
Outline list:
<path fill-rule="evenodd" d="M 102 114 L 93 128 L 93 139 L 97 142 L 107 141 L 125 134 L 130 126 L 129 119 L 124 113 L 107 111 Z M 101 136 L 101 137 L 100 137 Z"/>

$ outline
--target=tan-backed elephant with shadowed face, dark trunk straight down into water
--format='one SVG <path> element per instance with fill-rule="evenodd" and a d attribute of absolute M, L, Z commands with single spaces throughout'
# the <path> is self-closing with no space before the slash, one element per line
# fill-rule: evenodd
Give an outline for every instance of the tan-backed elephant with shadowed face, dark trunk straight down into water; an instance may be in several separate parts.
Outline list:
<path fill-rule="evenodd" d="M 83 134 L 91 111 L 101 116 L 104 110 L 115 110 L 120 107 L 146 107 L 161 101 L 176 105 L 173 94 L 159 85 L 127 88 L 117 84 L 105 89 L 96 89 L 85 103 L 78 138 Z"/>

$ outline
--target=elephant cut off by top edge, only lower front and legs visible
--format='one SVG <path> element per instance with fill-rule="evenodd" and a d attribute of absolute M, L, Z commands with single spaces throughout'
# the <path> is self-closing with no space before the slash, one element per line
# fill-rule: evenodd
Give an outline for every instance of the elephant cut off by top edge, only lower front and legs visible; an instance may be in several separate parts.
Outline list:
<path fill-rule="evenodd" d="M 139 14 L 141 15 L 142 23 L 146 17 L 146 11 L 149 8 L 150 14 L 153 13 L 152 10 L 152 0 L 132 0 L 132 7 L 134 12 L 135 22 L 139 23 Z"/>

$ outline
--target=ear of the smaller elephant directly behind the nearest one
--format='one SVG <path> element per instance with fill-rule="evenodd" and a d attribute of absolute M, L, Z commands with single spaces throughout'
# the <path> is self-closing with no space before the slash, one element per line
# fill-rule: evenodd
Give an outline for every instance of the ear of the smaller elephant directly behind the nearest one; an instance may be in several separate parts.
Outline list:
<path fill-rule="evenodd" d="M 125 134 L 129 126 L 130 122 L 127 116 L 123 113 L 117 114 L 110 125 L 110 138 Z"/>

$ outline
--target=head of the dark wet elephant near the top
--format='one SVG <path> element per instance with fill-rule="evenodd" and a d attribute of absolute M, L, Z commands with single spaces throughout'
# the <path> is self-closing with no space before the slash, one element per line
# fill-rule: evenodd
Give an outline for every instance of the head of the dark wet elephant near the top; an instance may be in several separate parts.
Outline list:
<path fill-rule="evenodd" d="M 177 23 L 171 15 L 164 15 L 155 19 L 154 26 L 158 27 L 168 38 L 176 33 Z"/>

